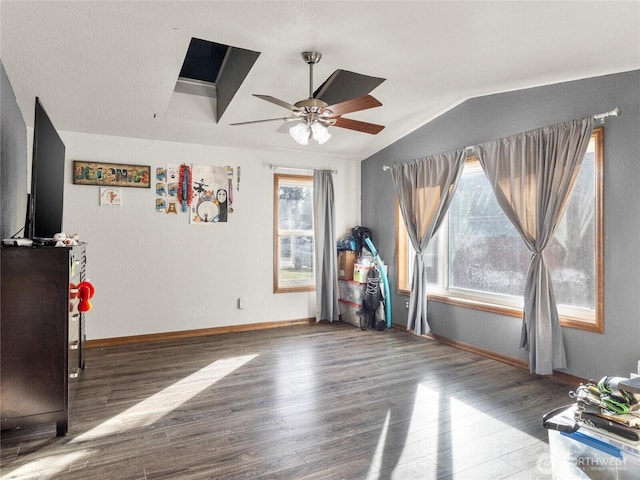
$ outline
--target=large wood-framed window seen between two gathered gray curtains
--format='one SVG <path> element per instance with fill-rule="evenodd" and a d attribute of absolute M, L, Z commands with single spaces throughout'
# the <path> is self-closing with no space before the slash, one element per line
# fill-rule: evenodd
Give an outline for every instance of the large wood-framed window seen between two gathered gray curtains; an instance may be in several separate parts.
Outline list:
<path fill-rule="evenodd" d="M 561 324 L 604 331 L 603 128 L 593 131 L 569 203 L 544 256 Z M 477 158 L 468 157 L 447 219 L 426 254 L 431 300 L 521 316 L 530 253 L 498 205 Z M 397 209 L 398 286 L 411 289 L 413 248 Z"/>

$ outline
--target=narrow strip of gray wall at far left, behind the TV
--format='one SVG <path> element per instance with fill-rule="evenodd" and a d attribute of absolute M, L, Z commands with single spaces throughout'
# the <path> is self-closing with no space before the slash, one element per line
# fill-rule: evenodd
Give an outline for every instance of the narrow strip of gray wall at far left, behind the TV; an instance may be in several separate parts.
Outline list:
<path fill-rule="evenodd" d="M 0 70 L 0 238 L 9 238 L 27 213 L 27 127 L 1 63 Z"/>

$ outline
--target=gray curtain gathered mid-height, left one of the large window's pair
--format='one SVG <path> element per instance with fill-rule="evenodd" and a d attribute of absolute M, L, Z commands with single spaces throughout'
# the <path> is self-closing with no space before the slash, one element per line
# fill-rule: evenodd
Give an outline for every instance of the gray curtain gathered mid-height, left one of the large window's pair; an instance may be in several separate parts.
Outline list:
<path fill-rule="evenodd" d="M 465 158 L 462 149 L 391 166 L 402 219 L 416 251 L 407 325 L 416 335 L 430 330 L 424 253 L 447 213 Z"/>

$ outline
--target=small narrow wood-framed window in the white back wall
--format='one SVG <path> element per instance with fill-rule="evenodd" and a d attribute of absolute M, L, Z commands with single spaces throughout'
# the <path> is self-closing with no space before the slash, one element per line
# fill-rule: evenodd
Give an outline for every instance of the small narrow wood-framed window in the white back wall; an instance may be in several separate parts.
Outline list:
<path fill-rule="evenodd" d="M 313 177 L 274 175 L 273 291 L 315 289 Z"/>

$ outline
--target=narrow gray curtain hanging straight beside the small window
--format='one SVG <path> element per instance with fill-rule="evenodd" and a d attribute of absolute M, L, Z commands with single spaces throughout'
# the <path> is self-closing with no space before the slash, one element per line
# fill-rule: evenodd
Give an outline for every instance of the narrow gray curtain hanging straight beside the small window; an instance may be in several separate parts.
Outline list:
<path fill-rule="evenodd" d="M 339 320 L 335 201 L 330 170 L 313 171 L 316 322 Z"/>

